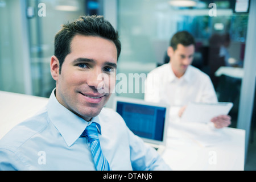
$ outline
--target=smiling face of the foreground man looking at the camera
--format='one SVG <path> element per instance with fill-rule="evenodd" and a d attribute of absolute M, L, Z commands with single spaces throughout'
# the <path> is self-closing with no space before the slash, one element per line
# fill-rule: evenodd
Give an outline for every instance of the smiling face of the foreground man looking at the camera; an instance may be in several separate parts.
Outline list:
<path fill-rule="evenodd" d="M 89 121 L 109 100 L 115 85 L 117 49 L 108 39 L 76 35 L 59 74 L 59 60 L 52 56 L 51 73 L 56 98 L 73 113 Z"/>

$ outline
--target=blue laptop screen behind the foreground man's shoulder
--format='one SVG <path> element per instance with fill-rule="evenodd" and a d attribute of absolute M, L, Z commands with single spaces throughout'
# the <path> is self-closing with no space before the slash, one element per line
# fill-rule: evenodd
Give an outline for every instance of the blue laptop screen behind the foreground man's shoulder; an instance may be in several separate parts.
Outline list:
<path fill-rule="evenodd" d="M 116 111 L 135 135 L 163 141 L 166 107 L 117 101 Z"/>

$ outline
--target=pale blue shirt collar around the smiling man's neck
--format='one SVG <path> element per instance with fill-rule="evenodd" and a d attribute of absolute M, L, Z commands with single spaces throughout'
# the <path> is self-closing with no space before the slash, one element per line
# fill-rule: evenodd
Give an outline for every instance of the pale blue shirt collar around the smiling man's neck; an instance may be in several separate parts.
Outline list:
<path fill-rule="evenodd" d="M 51 96 L 49 97 L 47 111 L 49 119 L 60 132 L 68 147 L 80 137 L 86 126 L 90 125 L 92 122 L 97 123 L 98 131 L 101 134 L 100 120 L 98 119 L 98 116 L 92 118 L 90 122 L 87 122 L 75 113 L 72 113 L 57 101 L 55 97 L 55 89 L 53 89 Z"/>

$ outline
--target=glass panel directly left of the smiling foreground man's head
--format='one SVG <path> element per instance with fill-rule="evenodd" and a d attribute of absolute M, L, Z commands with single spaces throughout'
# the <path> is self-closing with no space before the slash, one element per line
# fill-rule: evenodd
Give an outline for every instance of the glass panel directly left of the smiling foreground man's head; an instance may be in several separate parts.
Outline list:
<path fill-rule="evenodd" d="M 27 11 L 30 13 L 28 29 L 33 95 L 49 97 L 55 88 L 55 80 L 52 79 L 49 69 L 51 56 L 54 54 L 54 36 L 60 30 L 61 24 L 85 14 L 85 1 L 27 0 Z"/>

